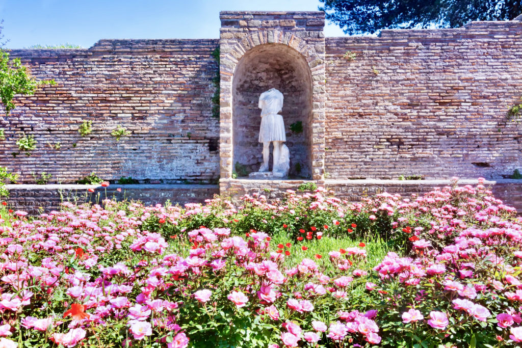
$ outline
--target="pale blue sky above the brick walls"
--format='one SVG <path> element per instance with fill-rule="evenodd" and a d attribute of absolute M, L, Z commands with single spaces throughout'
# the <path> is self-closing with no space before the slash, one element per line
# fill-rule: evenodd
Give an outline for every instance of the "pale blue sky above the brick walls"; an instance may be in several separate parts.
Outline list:
<path fill-rule="evenodd" d="M 315 11 L 318 0 L 0 0 L 8 49 L 100 39 L 219 38 L 221 10 Z M 345 34 L 334 25 L 328 37 Z"/>

